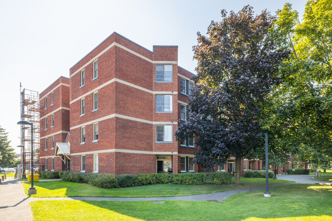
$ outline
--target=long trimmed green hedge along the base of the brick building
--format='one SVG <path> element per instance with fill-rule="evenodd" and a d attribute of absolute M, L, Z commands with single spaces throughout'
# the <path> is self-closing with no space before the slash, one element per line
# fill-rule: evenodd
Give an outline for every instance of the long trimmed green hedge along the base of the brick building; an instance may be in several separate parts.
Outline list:
<path fill-rule="evenodd" d="M 141 186 L 149 184 L 229 184 L 231 174 L 225 172 L 215 173 L 185 173 L 185 174 L 84 174 L 74 171 L 61 171 L 59 176 L 64 181 L 88 183 L 102 188 L 117 188 Z"/>

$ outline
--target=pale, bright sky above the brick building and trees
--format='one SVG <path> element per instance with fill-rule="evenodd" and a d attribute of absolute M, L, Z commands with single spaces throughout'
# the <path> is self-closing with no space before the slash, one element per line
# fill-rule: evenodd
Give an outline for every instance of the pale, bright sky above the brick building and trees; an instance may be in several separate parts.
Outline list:
<path fill-rule="evenodd" d="M 251 1 L 5 1 L 0 0 L 0 126 L 11 145 L 20 145 L 19 82 L 43 91 L 114 31 L 152 51 L 178 45 L 178 64 L 195 72 L 192 46 L 220 11 L 251 5 L 275 13 L 293 4 L 302 18 L 302 0 Z"/>

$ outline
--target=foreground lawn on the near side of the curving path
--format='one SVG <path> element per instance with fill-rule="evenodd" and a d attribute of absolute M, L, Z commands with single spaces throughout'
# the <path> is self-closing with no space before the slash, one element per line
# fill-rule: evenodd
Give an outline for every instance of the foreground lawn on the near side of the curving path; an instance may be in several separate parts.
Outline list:
<path fill-rule="evenodd" d="M 295 184 L 232 195 L 224 203 L 35 201 L 34 220 L 332 220 L 332 186 Z M 64 209 L 65 208 L 65 209 Z"/>

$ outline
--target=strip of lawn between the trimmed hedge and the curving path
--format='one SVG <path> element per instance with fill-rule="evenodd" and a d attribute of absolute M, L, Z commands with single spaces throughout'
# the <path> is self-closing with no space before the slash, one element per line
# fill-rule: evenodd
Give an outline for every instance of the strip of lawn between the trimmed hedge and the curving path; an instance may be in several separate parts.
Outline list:
<path fill-rule="evenodd" d="M 236 186 L 235 178 L 232 178 L 232 183 L 228 185 L 154 184 L 105 189 L 86 183 L 72 183 L 59 180 L 34 183 L 37 194 L 31 195 L 31 197 L 176 197 L 264 186 L 265 178 L 241 178 L 241 182 L 241 185 Z M 269 179 L 269 184 L 290 182 L 292 181 Z M 28 194 L 31 183 L 22 183 L 22 185 L 26 194 Z"/>

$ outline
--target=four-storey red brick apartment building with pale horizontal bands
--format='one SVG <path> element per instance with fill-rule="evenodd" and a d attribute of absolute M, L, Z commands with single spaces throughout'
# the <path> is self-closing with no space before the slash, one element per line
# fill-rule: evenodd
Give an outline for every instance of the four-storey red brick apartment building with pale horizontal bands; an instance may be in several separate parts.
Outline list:
<path fill-rule="evenodd" d="M 41 169 L 204 171 L 192 162 L 194 137 L 178 142 L 173 135 L 186 117 L 192 77 L 178 66 L 177 46 L 149 51 L 114 32 L 70 68 L 69 78 L 40 93 Z M 242 160 L 242 168 L 262 169 L 262 161 Z M 234 171 L 234 159 L 216 170 Z"/>

